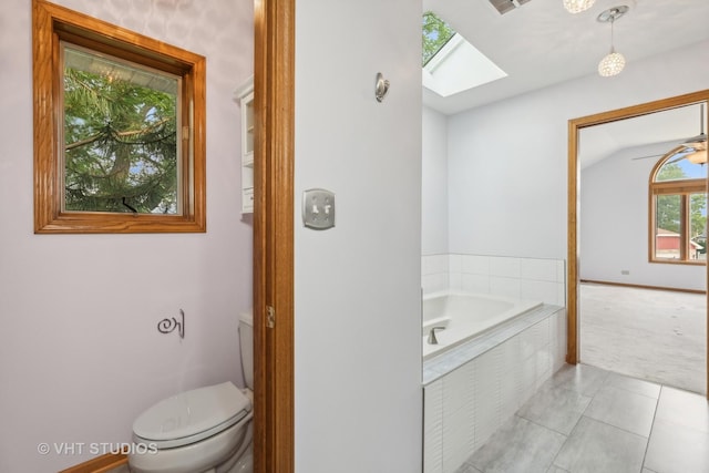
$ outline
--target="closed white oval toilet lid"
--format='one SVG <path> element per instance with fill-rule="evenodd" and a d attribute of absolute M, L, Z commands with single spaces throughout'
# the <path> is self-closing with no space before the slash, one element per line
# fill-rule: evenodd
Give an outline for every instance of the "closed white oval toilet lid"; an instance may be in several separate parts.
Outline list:
<path fill-rule="evenodd" d="M 133 433 L 145 441 L 184 445 L 228 429 L 250 410 L 248 398 L 224 382 L 160 401 L 135 420 Z"/>

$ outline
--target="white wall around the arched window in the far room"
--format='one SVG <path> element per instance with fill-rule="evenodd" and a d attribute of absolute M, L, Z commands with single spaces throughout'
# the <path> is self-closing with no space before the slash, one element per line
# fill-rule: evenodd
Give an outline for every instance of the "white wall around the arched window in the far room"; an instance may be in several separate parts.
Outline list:
<path fill-rule="evenodd" d="M 633 158 L 667 153 L 674 146 L 624 150 L 582 169 L 582 279 L 705 289 L 703 266 L 648 263 L 648 182 L 659 157 Z"/>

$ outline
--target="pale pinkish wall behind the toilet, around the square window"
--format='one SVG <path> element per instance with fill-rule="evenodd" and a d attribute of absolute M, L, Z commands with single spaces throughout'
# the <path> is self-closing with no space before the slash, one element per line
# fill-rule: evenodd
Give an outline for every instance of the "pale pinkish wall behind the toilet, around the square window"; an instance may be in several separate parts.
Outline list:
<path fill-rule="evenodd" d="M 6 0 L 0 18 L 0 471 L 45 473 L 93 455 L 40 442 L 126 442 L 158 399 L 243 382 L 251 224 L 232 94 L 253 71 L 253 1 L 58 1 L 207 56 L 207 234 L 194 235 L 33 235 L 30 3 Z M 183 341 L 156 330 L 181 308 Z"/>

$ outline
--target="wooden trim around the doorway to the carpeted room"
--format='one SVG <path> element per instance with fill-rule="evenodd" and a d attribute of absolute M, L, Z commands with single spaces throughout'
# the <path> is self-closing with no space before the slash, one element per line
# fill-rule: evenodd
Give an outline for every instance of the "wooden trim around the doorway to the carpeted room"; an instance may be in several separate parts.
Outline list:
<path fill-rule="evenodd" d="M 578 183 L 580 169 L 578 167 L 578 132 L 585 127 L 616 122 L 618 120 L 631 119 L 647 115 L 664 110 L 677 109 L 692 103 L 708 102 L 709 90 L 702 90 L 669 99 L 647 102 L 625 109 L 597 113 L 568 121 L 568 227 L 567 227 L 567 345 L 566 362 L 576 364 L 579 356 L 579 327 L 578 327 Z M 705 123 L 709 123 L 709 106 L 705 107 L 707 116 Z M 707 265 L 707 281 L 709 285 L 709 265 Z M 709 287 L 709 286 L 708 286 Z M 709 307 L 709 291 L 707 294 L 707 307 Z M 707 311 L 707 325 L 709 326 L 709 310 Z M 709 397 L 709 330 L 707 330 L 707 395 Z"/>

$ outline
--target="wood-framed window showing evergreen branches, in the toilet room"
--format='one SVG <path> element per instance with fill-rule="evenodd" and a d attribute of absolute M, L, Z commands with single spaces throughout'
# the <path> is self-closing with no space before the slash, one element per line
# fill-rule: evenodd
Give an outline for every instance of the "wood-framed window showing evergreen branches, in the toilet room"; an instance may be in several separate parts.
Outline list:
<path fill-rule="evenodd" d="M 205 232 L 205 59 L 32 10 L 34 232 Z"/>

